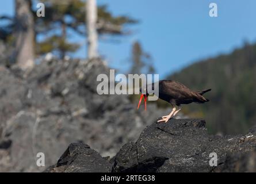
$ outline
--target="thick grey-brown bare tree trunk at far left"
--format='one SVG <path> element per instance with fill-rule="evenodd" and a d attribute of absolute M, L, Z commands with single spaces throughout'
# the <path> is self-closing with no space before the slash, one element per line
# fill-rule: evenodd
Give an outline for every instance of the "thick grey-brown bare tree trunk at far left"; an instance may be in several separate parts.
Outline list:
<path fill-rule="evenodd" d="M 34 66 L 34 20 L 31 11 L 31 1 L 16 0 L 16 59 L 23 70 Z"/>

